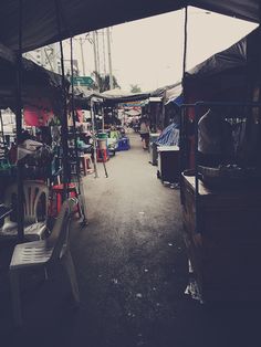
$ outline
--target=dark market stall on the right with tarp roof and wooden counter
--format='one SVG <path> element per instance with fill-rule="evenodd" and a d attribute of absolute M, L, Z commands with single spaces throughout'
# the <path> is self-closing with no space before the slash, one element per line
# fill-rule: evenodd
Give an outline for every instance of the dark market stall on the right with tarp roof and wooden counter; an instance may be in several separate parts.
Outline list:
<path fill-rule="evenodd" d="M 254 31 L 185 76 L 190 155 L 180 194 L 201 301 L 259 299 L 261 290 L 258 42 Z"/>

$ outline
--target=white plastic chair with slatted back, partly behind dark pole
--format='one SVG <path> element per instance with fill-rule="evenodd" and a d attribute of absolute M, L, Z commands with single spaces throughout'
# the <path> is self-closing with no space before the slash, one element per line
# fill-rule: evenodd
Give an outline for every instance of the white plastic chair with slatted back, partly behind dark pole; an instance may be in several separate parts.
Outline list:
<path fill-rule="evenodd" d="M 44 196 L 44 214 L 45 219 L 39 221 L 38 206 L 39 201 Z M 4 204 L 12 206 L 17 198 L 17 185 L 12 185 L 7 189 Z M 46 215 L 49 203 L 49 188 L 43 182 L 24 181 L 23 183 L 24 198 L 24 235 L 27 240 L 39 240 L 44 236 L 46 230 Z M 4 219 L 4 223 L 0 229 L 0 236 L 15 236 L 18 233 L 18 224 L 11 220 L 11 217 Z"/>

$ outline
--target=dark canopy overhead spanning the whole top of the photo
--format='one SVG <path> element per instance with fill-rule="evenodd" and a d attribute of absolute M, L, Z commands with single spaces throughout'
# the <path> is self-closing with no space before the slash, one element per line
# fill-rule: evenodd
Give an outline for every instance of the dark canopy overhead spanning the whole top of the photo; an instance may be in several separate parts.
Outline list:
<path fill-rule="evenodd" d="M 259 22 L 259 0 L 59 0 L 62 39 L 195 6 Z M 23 0 L 23 51 L 59 41 L 55 0 Z M 0 3 L 0 42 L 18 50 L 19 0 Z"/>

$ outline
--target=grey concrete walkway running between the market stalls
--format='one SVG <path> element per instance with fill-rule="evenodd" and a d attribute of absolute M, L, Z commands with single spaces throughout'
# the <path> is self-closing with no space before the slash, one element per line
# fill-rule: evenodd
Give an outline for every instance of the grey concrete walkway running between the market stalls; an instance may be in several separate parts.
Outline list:
<path fill-rule="evenodd" d="M 179 191 L 156 178 L 136 134 L 107 164 L 108 178 L 84 178 L 88 225 L 75 221 L 72 254 L 82 304 L 75 308 L 62 269 L 22 277 L 23 317 L 13 329 L 0 248 L 0 346 L 259 347 L 260 305 L 200 305 L 188 282 Z M 4 256 L 3 256 L 4 255 Z M 260 274 L 257 274 L 260 275 Z"/>

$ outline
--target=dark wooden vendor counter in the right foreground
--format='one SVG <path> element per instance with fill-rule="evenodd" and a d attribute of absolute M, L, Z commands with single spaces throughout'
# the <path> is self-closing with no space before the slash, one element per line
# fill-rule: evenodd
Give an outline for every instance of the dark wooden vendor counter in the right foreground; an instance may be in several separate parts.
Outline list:
<path fill-rule="evenodd" d="M 209 189 L 199 180 L 195 222 L 195 177 L 181 177 L 184 235 L 205 301 L 260 299 L 261 188 Z"/>

